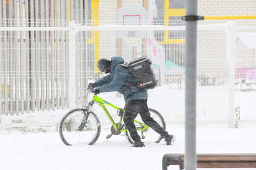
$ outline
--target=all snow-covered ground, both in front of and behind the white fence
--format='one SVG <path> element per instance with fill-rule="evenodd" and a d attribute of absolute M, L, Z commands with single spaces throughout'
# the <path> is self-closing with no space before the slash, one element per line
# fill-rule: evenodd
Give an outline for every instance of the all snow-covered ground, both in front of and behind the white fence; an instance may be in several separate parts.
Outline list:
<path fill-rule="evenodd" d="M 239 86 L 237 86 L 239 89 Z M 168 94 L 168 95 L 166 95 Z M 241 119 L 255 120 L 256 91 L 235 91 L 235 107 L 239 106 Z M 123 107 L 123 98 L 116 93 L 101 93 L 101 98 Z M 93 110 L 102 123 L 99 140 L 92 145 L 68 147 L 51 128 L 0 128 L 1 170 L 161 170 L 164 154 L 184 153 L 184 126 L 170 123 L 184 121 L 184 89 L 163 86 L 149 91 L 149 107 L 158 110 L 166 119 L 169 133 L 177 135 L 172 146 L 146 144 L 145 148 L 133 148 L 124 136 L 105 137 L 110 133 L 107 116 L 95 105 Z M 119 117 L 107 107 L 114 120 Z M 19 122 L 56 123 L 67 112 L 36 112 L 20 116 L 1 116 L 2 123 Z M 197 88 L 197 119 L 225 120 L 228 117 L 228 87 L 199 86 Z M 256 153 L 256 126 L 237 129 L 227 126 L 197 126 L 197 153 Z M 222 128 L 220 128 L 222 127 Z M 44 132 L 46 130 L 46 133 Z M 169 168 L 170 169 L 170 168 Z"/>

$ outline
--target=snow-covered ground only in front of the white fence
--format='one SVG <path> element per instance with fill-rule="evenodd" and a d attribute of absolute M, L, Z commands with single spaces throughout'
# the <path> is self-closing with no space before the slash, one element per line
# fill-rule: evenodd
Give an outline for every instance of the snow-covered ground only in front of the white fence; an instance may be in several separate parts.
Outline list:
<path fill-rule="evenodd" d="M 167 126 L 177 135 L 172 146 L 164 141 L 130 147 L 124 136 L 105 137 L 92 146 L 66 146 L 57 132 L 0 135 L 2 170 L 161 170 L 164 154 L 185 152 L 183 126 Z M 197 128 L 197 153 L 256 153 L 256 128 Z M 169 168 L 171 169 L 171 168 Z M 209 169 L 208 169 L 209 170 Z"/>

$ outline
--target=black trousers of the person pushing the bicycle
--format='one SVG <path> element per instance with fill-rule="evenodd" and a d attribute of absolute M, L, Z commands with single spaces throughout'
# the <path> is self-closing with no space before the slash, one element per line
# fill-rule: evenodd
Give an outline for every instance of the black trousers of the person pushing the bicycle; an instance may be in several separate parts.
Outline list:
<path fill-rule="evenodd" d="M 154 131 L 162 136 L 167 136 L 168 133 L 156 122 L 152 117 L 150 117 L 149 109 L 147 107 L 147 99 L 143 100 L 130 100 L 125 106 L 125 115 L 123 121 L 126 124 L 126 128 L 130 132 L 134 142 L 140 142 L 140 136 L 134 125 L 134 119 L 139 113 L 142 121 L 152 128 Z"/>

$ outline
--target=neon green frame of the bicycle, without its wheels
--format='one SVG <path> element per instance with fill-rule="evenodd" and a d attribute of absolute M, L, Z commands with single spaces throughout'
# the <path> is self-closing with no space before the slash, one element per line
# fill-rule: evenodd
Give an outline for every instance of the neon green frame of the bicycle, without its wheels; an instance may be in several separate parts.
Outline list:
<path fill-rule="evenodd" d="M 123 120 L 123 116 L 124 116 L 124 114 L 125 114 L 125 110 L 123 110 L 123 109 L 121 109 L 121 108 L 119 108 L 119 107 L 116 107 L 115 105 L 112 105 L 110 102 L 107 102 L 106 100 L 104 100 L 104 99 L 98 97 L 97 95 L 94 95 L 94 96 L 93 96 L 92 102 L 97 102 L 97 103 L 100 105 L 100 107 L 102 107 L 102 109 L 103 109 L 104 112 L 107 114 L 107 117 L 109 118 L 109 120 L 111 121 L 112 125 L 114 126 L 114 128 L 115 128 L 116 130 L 121 131 L 121 132 L 126 132 L 126 131 L 128 131 L 127 129 L 122 129 L 122 128 L 120 129 L 120 125 L 121 125 L 121 122 L 122 122 L 122 120 Z M 114 119 L 112 118 L 112 116 L 110 115 L 109 111 L 107 110 L 107 108 L 105 107 L 104 104 L 109 105 L 109 106 L 111 106 L 111 107 L 117 109 L 119 112 L 120 112 L 121 110 L 123 110 L 123 115 L 122 115 L 122 117 L 121 117 L 120 120 L 119 120 L 118 126 L 116 126 L 116 123 L 114 122 Z M 140 124 L 141 126 L 143 126 L 143 128 L 136 128 L 137 131 L 144 131 L 144 130 L 147 130 L 147 129 L 148 129 L 147 125 L 145 125 L 144 123 L 141 123 L 140 121 L 137 121 L 137 120 L 135 120 L 135 119 L 134 119 L 134 121 L 135 121 L 136 123 Z"/>

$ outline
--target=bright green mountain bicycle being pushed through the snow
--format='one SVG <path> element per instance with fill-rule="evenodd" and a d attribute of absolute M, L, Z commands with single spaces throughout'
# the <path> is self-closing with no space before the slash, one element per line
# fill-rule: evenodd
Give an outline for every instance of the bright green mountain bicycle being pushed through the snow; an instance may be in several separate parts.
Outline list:
<path fill-rule="evenodd" d="M 88 90 L 88 89 L 86 89 Z M 86 93 L 86 99 L 88 99 L 88 94 L 90 91 Z M 111 134 L 107 135 L 107 139 L 109 139 L 112 135 L 121 135 L 123 132 L 126 136 L 127 140 L 134 144 L 133 139 L 130 137 L 128 129 L 126 129 L 125 124 L 123 123 L 123 116 L 125 114 L 125 110 L 115 105 L 112 105 L 110 102 L 100 98 L 97 94 L 93 93 L 94 96 L 88 102 L 88 105 L 84 107 L 79 107 L 75 109 L 71 109 L 67 112 L 59 123 L 59 135 L 66 145 L 77 145 L 77 144 L 94 144 L 100 136 L 101 132 L 101 124 L 97 115 L 91 110 L 93 104 L 95 102 L 102 107 L 107 117 L 112 123 L 110 128 Z M 87 100 L 85 100 L 87 101 Z M 118 123 L 114 122 L 111 114 L 105 107 L 105 105 L 109 105 L 117 110 L 117 114 L 120 116 L 120 120 Z M 151 117 L 159 123 L 159 125 L 165 130 L 166 124 L 163 116 L 159 112 L 154 109 L 149 109 Z M 134 120 L 135 127 L 137 129 L 138 134 L 140 135 L 143 142 L 150 143 L 155 142 L 159 143 L 161 141 L 161 135 L 156 133 L 153 129 L 143 123 L 139 114 Z"/>

